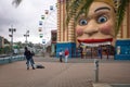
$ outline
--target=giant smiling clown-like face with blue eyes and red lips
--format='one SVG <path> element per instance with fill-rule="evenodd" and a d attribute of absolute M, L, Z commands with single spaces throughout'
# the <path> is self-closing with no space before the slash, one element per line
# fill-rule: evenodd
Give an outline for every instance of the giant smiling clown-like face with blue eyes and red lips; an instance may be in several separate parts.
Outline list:
<path fill-rule="evenodd" d="M 82 13 L 77 22 L 76 35 L 79 44 L 101 46 L 115 44 L 115 11 L 104 2 L 93 2 L 88 15 Z"/>

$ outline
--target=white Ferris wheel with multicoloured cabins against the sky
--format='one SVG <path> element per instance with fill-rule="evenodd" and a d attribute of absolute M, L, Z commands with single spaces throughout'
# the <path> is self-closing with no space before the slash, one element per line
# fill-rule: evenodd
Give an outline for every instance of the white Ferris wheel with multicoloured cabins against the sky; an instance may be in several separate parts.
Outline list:
<path fill-rule="evenodd" d="M 50 10 L 44 10 L 39 21 L 39 38 L 41 44 L 47 44 L 51 40 L 51 30 L 57 29 L 57 12 L 56 7 L 50 5 Z"/>

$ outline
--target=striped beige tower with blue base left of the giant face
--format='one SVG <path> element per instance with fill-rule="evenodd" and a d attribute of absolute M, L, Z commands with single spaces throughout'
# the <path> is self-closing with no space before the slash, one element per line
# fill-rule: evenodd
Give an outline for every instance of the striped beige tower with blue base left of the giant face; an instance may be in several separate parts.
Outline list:
<path fill-rule="evenodd" d="M 69 0 L 70 1 L 70 0 Z M 69 57 L 75 55 L 76 41 L 75 41 L 75 27 L 74 20 L 72 20 L 66 26 L 66 3 L 68 0 L 57 0 L 57 44 L 56 44 L 56 57 L 62 49 L 69 50 Z M 72 29 L 73 28 L 73 29 Z"/>

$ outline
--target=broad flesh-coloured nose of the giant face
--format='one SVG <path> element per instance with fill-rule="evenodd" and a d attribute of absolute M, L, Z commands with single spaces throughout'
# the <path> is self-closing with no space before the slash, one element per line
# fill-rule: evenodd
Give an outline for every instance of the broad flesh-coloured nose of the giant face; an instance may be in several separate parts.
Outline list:
<path fill-rule="evenodd" d="M 99 26 L 94 21 L 90 21 L 87 27 L 83 29 L 83 33 L 88 36 L 92 36 L 99 32 Z"/>

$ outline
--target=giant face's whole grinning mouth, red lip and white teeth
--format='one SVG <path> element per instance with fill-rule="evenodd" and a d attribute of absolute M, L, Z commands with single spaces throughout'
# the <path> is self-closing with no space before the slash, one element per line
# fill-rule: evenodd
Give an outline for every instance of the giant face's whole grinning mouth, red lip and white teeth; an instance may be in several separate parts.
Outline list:
<path fill-rule="evenodd" d="M 113 38 L 106 38 L 106 39 L 78 39 L 78 41 L 88 47 L 99 47 L 104 45 L 110 45 L 113 41 Z"/>

